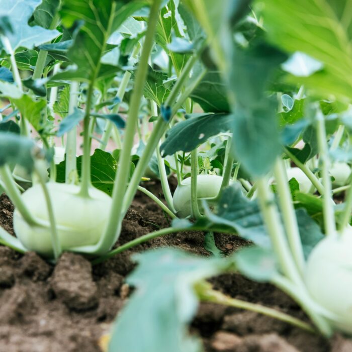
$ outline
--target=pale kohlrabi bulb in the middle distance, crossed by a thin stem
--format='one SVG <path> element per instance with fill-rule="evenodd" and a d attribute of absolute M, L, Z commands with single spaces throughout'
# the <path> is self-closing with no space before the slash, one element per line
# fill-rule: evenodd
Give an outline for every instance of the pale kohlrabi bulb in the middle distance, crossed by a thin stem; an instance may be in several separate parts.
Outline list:
<path fill-rule="evenodd" d="M 198 175 L 197 198 L 201 206 L 201 199 L 216 197 L 220 191 L 222 177 L 217 175 Z M 191 178 L 182 181 L 173 194 L 173 206 L 177 215 L 186 218 L 191 215 Z"/>

